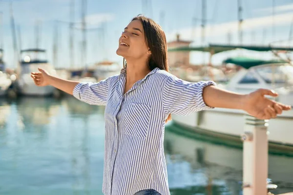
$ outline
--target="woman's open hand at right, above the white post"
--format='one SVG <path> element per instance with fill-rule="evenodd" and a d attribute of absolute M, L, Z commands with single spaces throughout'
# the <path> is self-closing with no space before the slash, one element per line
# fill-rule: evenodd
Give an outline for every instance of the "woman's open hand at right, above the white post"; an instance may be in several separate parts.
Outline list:
<path fill-rule="evenodd" d="M 268 89 L 259 89 L 245 96 L 243 110 L 259 119 L 275 118 L 291 106 L 268 99 L 265 95 L 277 97 L 278 94 Z"/>

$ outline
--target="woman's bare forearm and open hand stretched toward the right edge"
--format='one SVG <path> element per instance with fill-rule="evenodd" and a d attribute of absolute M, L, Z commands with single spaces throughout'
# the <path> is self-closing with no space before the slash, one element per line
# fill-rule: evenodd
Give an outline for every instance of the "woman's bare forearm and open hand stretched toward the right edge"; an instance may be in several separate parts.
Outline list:
<path fill-rule="evenodd" d="M 203 90 L 205 103 L 210 107 L 241 109 L 253 117 L 270 119 L 290 110 L 290 105 L 284 105 L 268 99 L 265 95 L 276 97 L 277 93 L 268 89 L 259 89 L 250 94 L 242 95 L 209 85 Z"/>

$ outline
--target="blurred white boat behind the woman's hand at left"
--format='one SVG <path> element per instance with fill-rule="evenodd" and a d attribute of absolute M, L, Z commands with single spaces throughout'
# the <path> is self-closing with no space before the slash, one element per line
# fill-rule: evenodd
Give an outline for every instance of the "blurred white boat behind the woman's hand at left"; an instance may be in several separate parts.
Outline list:
<path fill-rule="evenodd" d="M 31 72 L 39 72 L 38 67 L 48 71 L 49 74 L 56 76 L 56 70 L 46 60 L 46 51 L 42 49 L 21 50 L 21 62 L 17 74 L 18 91 L 21 95 L 28 96 L 49 96 L 55 88 L 53 86 L 36 86 L 31 78 Z"/>

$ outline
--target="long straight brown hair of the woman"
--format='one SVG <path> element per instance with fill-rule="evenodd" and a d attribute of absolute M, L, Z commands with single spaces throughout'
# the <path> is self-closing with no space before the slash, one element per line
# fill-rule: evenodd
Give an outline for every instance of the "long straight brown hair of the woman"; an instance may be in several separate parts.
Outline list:
<path fill-rule="evenodd" d="M 145 31 L 146 45 L 149 47 L 151 55 L 148 59 L 148 68 L 153 70 L 158 67 L 161 70 L 169 72 L 168 69 L 168 54 L 166 35 L 159 24 L 154 20 L 143 15 L 134 17 L 133 20 L 140 20 Z M 123 59 L 123 67 L 126 68 L 127 62 Z M 165 122 L 171 120 L 171 115 L 168 115 Z"/>

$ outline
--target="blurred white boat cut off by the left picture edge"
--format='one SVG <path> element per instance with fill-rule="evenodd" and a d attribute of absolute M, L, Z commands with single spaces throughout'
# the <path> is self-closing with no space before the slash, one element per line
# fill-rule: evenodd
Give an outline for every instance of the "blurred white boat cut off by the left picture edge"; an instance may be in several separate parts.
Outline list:
<path fill-rule="evenodd" d="M 5 96 L 8 92 L 12 81 L 8 74 L 5 73 L 5 64 L 2 59 L 3 50 L 0 49 L 0 96 Z"/>

